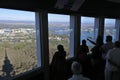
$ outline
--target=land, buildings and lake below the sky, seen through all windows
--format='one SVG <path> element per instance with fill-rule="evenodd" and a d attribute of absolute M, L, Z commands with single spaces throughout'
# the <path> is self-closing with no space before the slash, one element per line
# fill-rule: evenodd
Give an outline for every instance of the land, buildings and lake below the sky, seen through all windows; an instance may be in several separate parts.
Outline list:
<path fill-rule="evenodd" d="M 37 67 L 36 58 L 36 28 L 34 22 L 1 21 L 0 23 L 0 76 L 12 77 Z M 112 26 L 107 27 L 107 34 L 113 35 Z M 52 22 L 49 24 L 50 60 L 56 51 L 58 43 L 65 46 L 69 55 L 69 24 L 67 22 Z M 81 28 L 81 40 L 93 37 L 94 28 L 85 23 Z M 56 42 L 56 44 L 55 44 Z M 88 43 L 89 45 L 89 43 Z M 27 59 L 26 59 L 27 58 Z M 6 65 L 9 65 L 5 67 Z M 11 70 L 6 70 L 10 67 Z M 9 68 L 8 68 L 9 69 Z"/>

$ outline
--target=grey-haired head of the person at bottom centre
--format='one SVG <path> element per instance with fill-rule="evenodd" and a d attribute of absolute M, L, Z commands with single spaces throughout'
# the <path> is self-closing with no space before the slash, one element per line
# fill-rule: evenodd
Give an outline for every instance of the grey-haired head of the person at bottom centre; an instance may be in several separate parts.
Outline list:
<path fill-rule="evenodd" d="M 71 70 L 73 74 L 80 74 L 82 72 L 82 66 L 80 63 L 74 61 L 71 65 Z"/>

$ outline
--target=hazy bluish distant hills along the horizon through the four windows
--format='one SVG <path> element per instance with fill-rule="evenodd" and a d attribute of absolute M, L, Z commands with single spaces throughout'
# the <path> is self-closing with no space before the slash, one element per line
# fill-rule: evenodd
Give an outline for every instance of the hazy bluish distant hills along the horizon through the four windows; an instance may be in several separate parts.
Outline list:
<path fill-rule="evenodd" d="M 0 20 L 0 25 L 35 25 L 35 21 L 16 21 L 16 20 Z M 49 27 L 69 27 L 69 22 L 48 22 Z M 83 27 L 94 26 L 94 23 L 82 23 Z M 105 24 L 106 27 L 115 27 L 113 23 Z"/>

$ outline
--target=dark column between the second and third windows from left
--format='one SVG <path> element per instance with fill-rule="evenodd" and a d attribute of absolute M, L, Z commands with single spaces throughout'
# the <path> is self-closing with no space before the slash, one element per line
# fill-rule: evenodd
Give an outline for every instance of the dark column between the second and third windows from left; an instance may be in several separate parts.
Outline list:
<path fill-rule="evenodd" d="M 77 57 L 80 46 L 81 16 L 70 16 L 70 55 Z"/>

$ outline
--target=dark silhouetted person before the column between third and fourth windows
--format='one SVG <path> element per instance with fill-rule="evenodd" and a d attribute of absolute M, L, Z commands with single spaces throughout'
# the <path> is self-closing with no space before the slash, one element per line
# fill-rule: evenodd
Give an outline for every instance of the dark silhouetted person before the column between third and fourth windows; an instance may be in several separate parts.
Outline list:
<path fill-rule="evenodd" d="M 92 59 L 92 67 L 93 67 L 93 78 L 97 80 L 99 77 L 104 78 L 104 68 L 103 68 L 103 60 L 102 60 L 102 51 L 101 46 L 103 45 L 102 36 L 98 35 L 95 46 L 91 49 L 91 59 Z"/>

